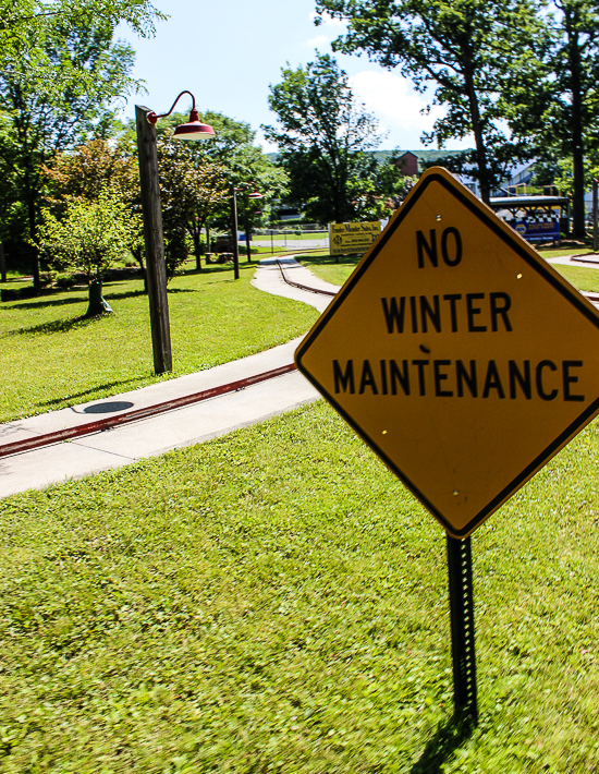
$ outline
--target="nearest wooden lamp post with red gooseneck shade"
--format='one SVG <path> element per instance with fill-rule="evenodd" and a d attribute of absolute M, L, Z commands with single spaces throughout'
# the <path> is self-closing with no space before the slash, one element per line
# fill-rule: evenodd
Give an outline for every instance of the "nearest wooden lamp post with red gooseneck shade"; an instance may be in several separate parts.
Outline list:
<path fill-rule="evenodd" d="M 167 265 L 164 263 L 164 238 L 162 234 L 162 210 L 160 207 L 160 184 L 158 180 L 158 153 L 156 147 L 156 123 L 170 116 L 174 106 L 184 95 L 193 99 L 188 123 L 174 130 L 175 140 L 205 140 L 215 136 L 215 130 L 200 123 L 196 100 L 191 92 L 181 92 L 167 113 L 157 114 L 140 105 L 135 106 L 137 128 L 137 155 L 139 159 L 139 185 L 144 218 L 144 241 L 146 245 L 146 275 L 150 311 L 151 347 L 154 370 L 157 374 L 172 371 L 171 328 L 169 322 L 169 300 L 167 297 Z"/>

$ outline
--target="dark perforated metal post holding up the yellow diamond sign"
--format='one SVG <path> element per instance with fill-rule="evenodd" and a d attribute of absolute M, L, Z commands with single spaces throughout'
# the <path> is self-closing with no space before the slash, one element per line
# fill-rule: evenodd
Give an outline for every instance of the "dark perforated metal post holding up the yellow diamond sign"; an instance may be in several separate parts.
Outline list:
<path fill-rule="evenodd" d="M 476 724 L 476 653 L 470 539 L 448 535 L 448 573 L 455 714 Z"/>

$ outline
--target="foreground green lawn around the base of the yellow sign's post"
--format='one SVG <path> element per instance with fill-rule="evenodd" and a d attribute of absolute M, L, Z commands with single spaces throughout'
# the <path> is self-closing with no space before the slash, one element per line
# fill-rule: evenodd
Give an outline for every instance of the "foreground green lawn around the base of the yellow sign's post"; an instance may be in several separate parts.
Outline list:
<path fill-rule="evenodd" d="M 598 464 L 473 537 L 469 737 L 443 531 L 322 402 L 2 500 L 0 770 L 599 771 Z"/>

